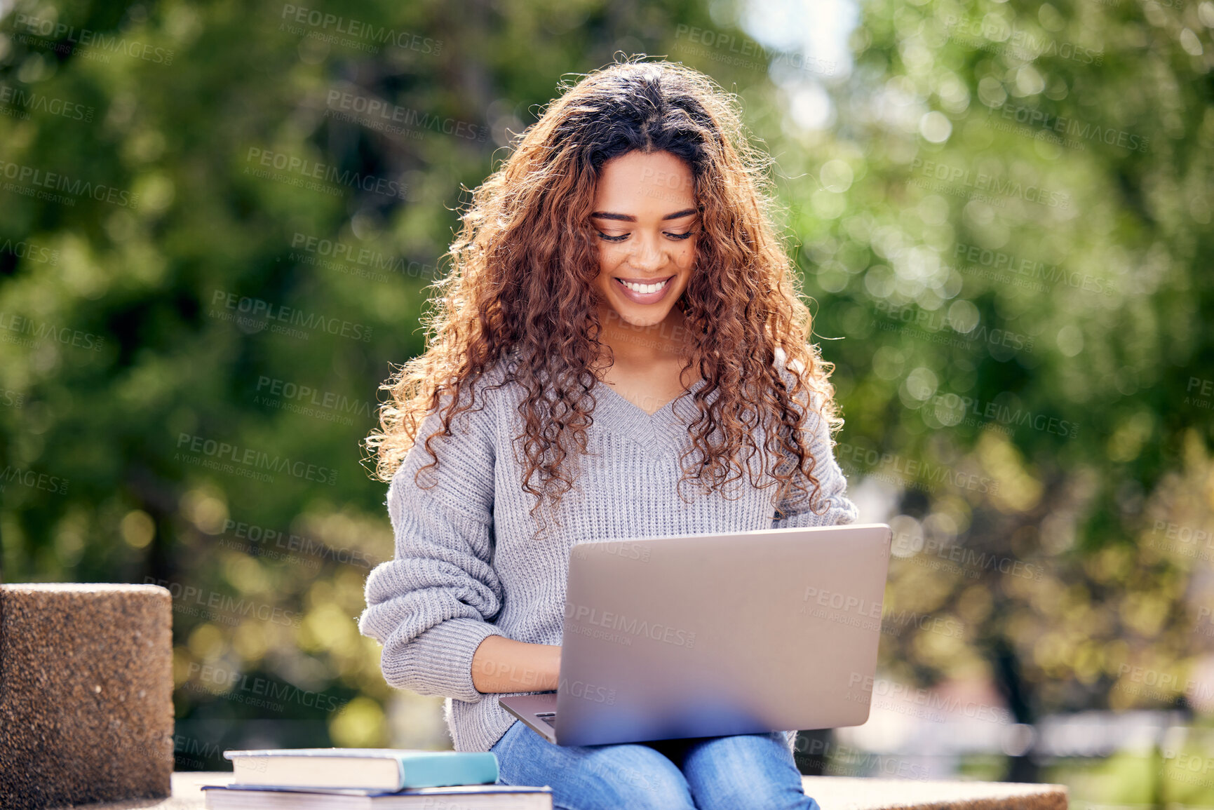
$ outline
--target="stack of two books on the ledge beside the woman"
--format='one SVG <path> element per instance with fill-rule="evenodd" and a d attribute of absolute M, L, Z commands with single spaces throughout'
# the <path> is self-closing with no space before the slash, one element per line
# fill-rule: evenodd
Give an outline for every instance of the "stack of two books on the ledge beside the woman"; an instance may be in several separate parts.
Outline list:
<path fill-rule="evenodd" d="M 497 784 L 489 752 L 393 748 L 226 750 L 234 778 L 208 810 L 551 810 L 549 787 Z"/>

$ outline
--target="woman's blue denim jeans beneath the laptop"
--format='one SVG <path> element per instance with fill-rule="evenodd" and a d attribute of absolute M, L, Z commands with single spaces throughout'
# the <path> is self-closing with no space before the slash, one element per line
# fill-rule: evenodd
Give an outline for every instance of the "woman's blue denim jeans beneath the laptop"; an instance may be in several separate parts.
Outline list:
<path fill-rule="evenodd" d="M 499 782 L 549 784 L 558 810 L 819 810 L 778 731 L 555 746 L 516 720 L 489 750 Z"/>

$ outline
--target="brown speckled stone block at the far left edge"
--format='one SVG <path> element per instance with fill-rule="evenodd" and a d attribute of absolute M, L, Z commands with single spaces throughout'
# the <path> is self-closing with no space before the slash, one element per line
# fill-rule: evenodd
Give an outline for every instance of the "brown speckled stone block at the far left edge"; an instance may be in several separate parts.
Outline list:
<path fill-rule="evenodd" d="M 155 585 L 0 585 L 0 806 L 171 791 L 172 600 Z"/>

